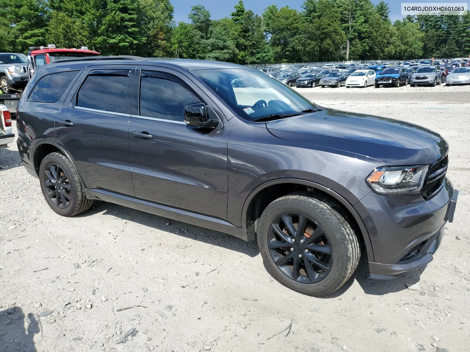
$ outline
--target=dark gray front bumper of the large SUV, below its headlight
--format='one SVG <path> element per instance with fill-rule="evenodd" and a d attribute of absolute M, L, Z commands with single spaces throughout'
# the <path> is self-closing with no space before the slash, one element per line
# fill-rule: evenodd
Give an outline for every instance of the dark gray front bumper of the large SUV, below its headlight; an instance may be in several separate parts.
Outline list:
<path fill-rule="evenodd" d="M 426 201 L 413 195 L 379 196 L 374 192 L 361 199 L 355 207 L 368 228 L 374 252 L 370 277 L 391 279 L 429 263 L 444 225 L 454 219 L 457 195 L 445 179 L 440 191 Z"/>

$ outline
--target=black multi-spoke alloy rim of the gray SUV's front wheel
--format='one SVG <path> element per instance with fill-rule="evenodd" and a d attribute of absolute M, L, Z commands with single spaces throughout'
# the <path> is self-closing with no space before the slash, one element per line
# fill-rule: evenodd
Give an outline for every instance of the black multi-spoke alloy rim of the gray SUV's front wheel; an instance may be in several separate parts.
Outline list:
<path fill-rule="evenodd" d="M 318 283 L 331 271 L 333 252 L 325 230 L 304 214 L 277 216 L 267 236 L 274 264 L 298 283 Z"/>

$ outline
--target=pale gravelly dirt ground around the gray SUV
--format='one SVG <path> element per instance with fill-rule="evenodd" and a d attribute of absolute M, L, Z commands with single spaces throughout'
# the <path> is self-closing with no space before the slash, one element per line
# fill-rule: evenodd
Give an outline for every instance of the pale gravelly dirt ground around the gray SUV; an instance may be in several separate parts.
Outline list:
<path fill-rule="evenodd" d="M 308 297 L 267 274 L 255 243 L 108 203 L 56 215 L 12 144 L 0 154 L 0 352 L 468 351 L 470 86 L 298 91 L 446 138 L 459 200 L 426 268 L 372 281 L 363 252 L 344 287 Z"/>

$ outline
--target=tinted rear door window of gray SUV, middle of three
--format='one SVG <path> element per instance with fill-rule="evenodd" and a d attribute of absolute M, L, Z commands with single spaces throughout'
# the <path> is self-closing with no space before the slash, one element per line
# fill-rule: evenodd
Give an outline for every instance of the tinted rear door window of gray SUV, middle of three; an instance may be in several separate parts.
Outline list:
<path fill-rule="evenodd" d="M 129 73 L 129 70 L 91 71 L 78 91 L 77 106 L 123 114 Z"/>

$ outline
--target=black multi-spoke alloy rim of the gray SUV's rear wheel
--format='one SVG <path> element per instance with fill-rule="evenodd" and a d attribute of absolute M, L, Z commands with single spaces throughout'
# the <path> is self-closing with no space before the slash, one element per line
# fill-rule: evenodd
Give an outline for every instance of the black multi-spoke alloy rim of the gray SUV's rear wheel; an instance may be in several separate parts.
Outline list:
<path fill-rule="evenodd" d="M 42 175 L 46 194 L 55 207 L 65 209 L 72 199 L 69 176 L 57 164 L 48 164 Z"/>

